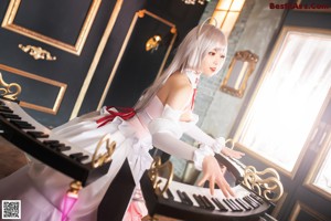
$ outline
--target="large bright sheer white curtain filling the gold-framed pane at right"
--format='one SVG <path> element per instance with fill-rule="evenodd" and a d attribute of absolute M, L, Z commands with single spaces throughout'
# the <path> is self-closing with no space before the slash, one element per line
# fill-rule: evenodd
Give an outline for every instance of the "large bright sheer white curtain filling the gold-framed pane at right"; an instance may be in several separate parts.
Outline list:
<path fill-rule="evenodd" d="M 285 33 L 235 137 L 290 172 L 331 87 L 331 35 Z"/>

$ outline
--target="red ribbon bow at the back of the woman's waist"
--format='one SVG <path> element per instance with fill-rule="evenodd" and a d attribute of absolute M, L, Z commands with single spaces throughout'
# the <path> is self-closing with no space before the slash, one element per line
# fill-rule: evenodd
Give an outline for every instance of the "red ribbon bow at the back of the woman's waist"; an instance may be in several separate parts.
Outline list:
<path fill-rule="evenodd" d="M 115 108 L 116 110 L 113 110 Z M 115 117 L 120 117 L 124 120 L 130 119 L 136 115 L 136 110 L 131 107 L 115 107 L 115 106 L 107 106 L 106 110 L 109 115 L 99 118 L 96 123 L 99 124 L 98 128 L 106 125 L 109 122 L 113 122 Z"/>

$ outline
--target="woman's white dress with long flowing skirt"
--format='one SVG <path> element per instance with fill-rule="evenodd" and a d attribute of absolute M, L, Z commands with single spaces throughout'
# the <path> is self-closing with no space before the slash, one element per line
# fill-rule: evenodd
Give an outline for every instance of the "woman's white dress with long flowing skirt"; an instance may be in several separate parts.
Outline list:
<path fill-rule="evenodd" d="M 66 139 L 92 154 L 99 139 L 107 133 L 117 143 L 108 173 L 79 191 L 78 200 L 67 220 L 97 220 L 97 208 L 126 158 L 136 185 L 139 186 L 141 175 L 152 161 L 148 152 L 153 147 L 148 125 L 152 119 L 160 117 L 163 109 L 163 104 L 154 96 L 142 112 L 129 120 L 116 117 L 111 123 L 98 127 L 96 120 L 108 115 L 102 109 L 53 129 L 61 139 Z M 0 180 L 0 200 L 21 200 L 23 221 L 58 221 L 62 217 L 63 198 L 72 181 L 72 178 L 33 160 Z"/>

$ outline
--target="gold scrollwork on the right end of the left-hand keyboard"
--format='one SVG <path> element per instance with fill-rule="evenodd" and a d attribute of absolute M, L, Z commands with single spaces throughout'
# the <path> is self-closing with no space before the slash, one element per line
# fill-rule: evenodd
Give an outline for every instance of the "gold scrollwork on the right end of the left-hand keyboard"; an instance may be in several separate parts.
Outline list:
<path fill-rule="evenodd" d="M 92 157 L 93 168 L 97 168 L 97 167 L 110 161 L 111 156 L 116 148 L 116 143 L 114 140 L 110 143 L 110 140 L 111 140 L 111 137 L 109 134 L 107 134 L 98 141 L 97 147 Z M 99 149 L 104 143 L 106 143 L 107 151 L 105 154 L 99 154 Z"/>

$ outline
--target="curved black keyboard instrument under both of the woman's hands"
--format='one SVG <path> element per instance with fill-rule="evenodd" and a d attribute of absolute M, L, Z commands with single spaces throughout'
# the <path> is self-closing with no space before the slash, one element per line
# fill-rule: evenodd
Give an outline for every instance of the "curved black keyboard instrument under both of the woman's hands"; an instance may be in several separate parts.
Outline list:
<path fill-rule="evenodd" d="M 167 191 L 160 194 L 167 186 L 168 179 L 153 176 L 153 179 L 157 177 L 157 182 L 159 182 L 157 186 L 159 191 L 156 191 L 154 181 L 151 181 L 150 178 L 150 175 L 156 175 L 156 170 L 152 171 L 153 168 L 151 168 L 152 172 L 146 171 L 140 180 L 149 215 L 190 221 L 260 220 L 260 217 L 268 217 L 267 214 L 275 207 L 274 203 L 243 185 L 246 166 L 239 160 L 222 154 L 215 155 L 215 158 L 234 175 L 236 179 L 233 187 L 235 197 L 225 198 L 220 189 L 215 189 L 214 196 L 212 196 L 209 188 L 173 180 L 169 182 L 170 185 L 168 183 Z M 163 165 L 159 166 L 159 168 L 162 167 Z M 161 173 L 163 172 L 161 171 Z"/>

